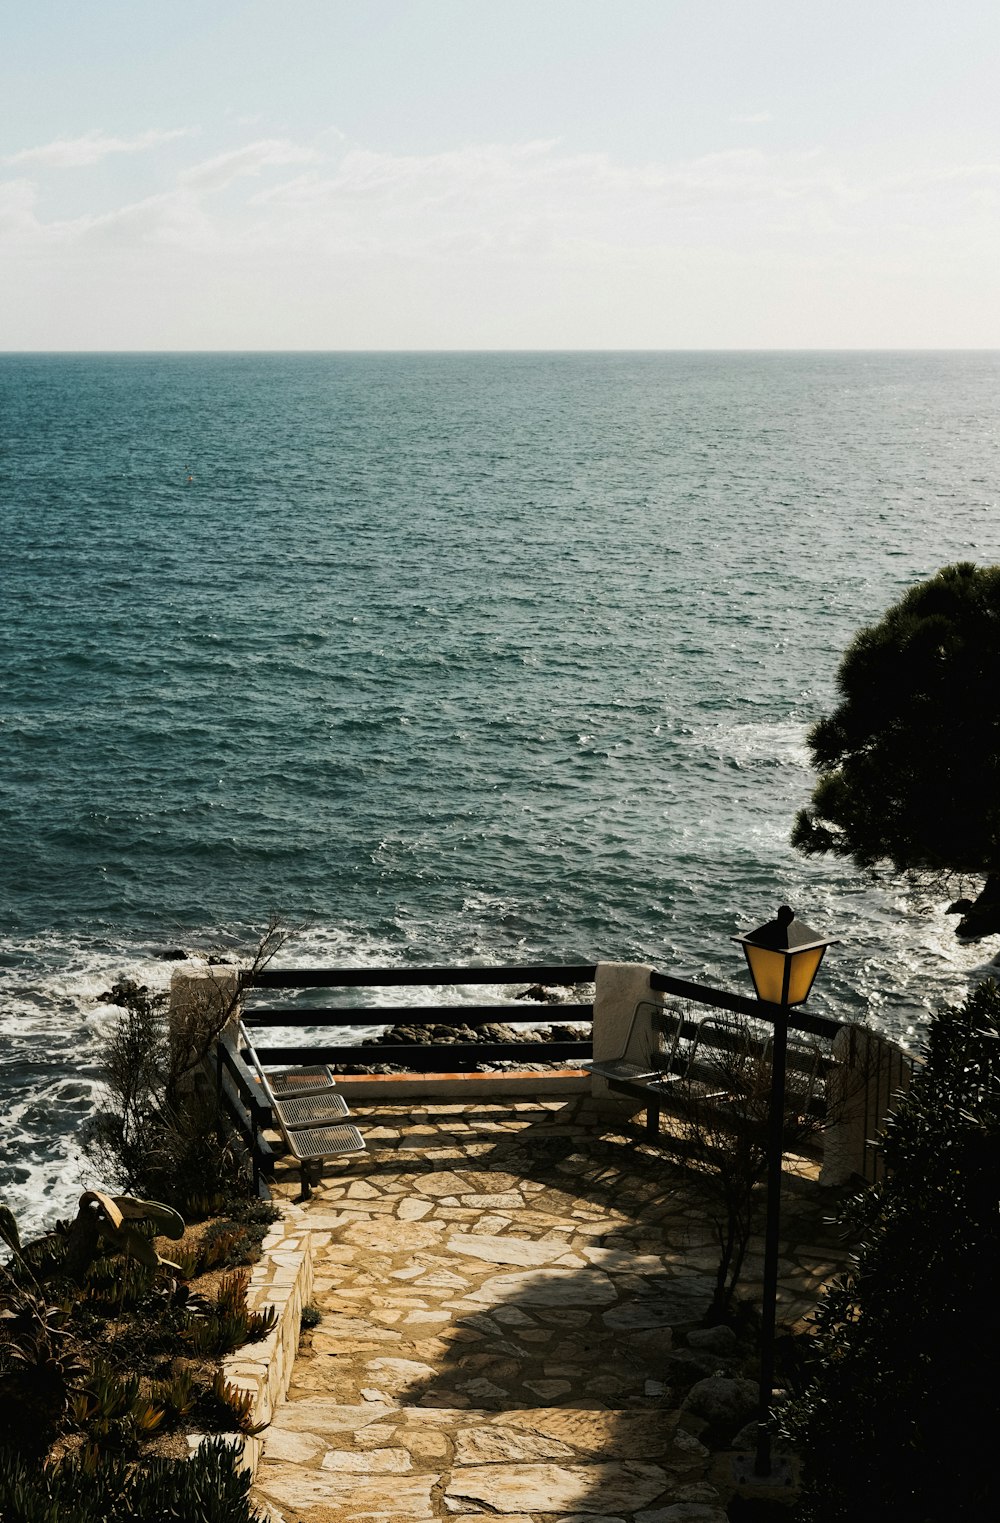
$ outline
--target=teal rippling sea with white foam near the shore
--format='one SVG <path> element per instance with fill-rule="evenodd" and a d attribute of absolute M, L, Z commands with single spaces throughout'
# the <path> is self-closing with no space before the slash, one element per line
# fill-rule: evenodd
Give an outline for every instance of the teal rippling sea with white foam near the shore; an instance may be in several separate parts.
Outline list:
<path fill-rule="evenodd" d="M 110 984 L 271 912 L 297 964 L 746 988 L 788 902 L 842 938 L 813 1007 L 919 1042 L 989 943 L 788 832 L 858 626 L 1000 560 L 998 391 L 986 352 L 0 355 L 0 1200 L 96 1182 Z"/>

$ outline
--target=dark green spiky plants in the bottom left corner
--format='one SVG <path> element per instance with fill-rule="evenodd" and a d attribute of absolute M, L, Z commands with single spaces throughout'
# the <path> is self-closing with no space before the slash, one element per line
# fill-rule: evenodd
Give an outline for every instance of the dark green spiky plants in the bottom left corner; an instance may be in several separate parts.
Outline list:
<path fill-rule="evenodd" d="M 0 1448 L 3 1523 L 263 1523 L 250 1476 L 218 1439 L 142 1467 L 91 1456 L 43 1470 Z"/>

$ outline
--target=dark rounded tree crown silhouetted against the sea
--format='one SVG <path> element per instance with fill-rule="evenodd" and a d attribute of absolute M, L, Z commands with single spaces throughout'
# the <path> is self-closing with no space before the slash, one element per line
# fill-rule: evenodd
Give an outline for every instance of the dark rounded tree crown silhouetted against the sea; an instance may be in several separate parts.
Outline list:
<path fill-rule="evenodd" d="M 861 629 L 810 733 L 793 845 L 861 867 L 1000 868 L 1000 567 L 945 567 Z"/>

